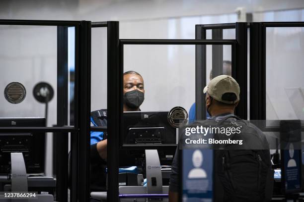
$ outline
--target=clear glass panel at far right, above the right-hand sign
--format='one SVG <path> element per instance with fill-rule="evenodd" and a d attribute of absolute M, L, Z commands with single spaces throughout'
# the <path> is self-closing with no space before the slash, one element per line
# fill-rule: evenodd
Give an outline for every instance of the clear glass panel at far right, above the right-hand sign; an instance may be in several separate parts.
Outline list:
<path fill-rule="evenodd" d="M 304 28 L 266 29 L 266 119 L 304 119 Z"/>

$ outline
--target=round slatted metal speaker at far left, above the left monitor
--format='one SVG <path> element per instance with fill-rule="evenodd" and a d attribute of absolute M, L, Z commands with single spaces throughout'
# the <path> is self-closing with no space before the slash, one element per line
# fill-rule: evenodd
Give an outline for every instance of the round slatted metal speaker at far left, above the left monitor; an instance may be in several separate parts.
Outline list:
<path fill-rule="evenodd" d="M 24 86 L 18 82 L 11 82 L 7 84 L 4 89 L 5 99 L 13 104 L 18 104 L 25 99 L 26 90 Z"/>

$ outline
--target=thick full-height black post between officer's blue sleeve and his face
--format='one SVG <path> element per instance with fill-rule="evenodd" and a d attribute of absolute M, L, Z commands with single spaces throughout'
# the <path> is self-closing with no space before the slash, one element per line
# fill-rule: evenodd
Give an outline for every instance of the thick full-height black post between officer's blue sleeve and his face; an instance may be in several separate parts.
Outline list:
<path fill-rule="evenodd" d="M 121 47 L 121 51 L 122 47 Z M 121 58 L 119 58 L 119 55 Z M 108 22 L 108 184 L 107 201 L 119 202 L 119 137 L 123 112 L 123 52 L 119 52 L 119 22 Z"/>

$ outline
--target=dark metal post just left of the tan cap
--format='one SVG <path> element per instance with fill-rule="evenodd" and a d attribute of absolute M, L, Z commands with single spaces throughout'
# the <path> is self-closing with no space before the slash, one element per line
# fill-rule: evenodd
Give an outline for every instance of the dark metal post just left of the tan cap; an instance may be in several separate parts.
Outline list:
<path fill-rule="evenodd" d="M 195 39 L 206 39 L 206 29 L 195 26 Z M 195 46 L 195 114 L 197 120 L 206 119 L 205 94 L 206 86 L 206 45 Z"/>

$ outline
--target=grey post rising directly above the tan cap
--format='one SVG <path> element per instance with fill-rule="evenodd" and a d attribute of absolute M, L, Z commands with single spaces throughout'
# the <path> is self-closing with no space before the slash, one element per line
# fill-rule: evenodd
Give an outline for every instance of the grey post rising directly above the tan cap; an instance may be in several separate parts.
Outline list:
<path fill-rule="evenodd" d="M 213 29 L 212 39 L 223 39 L 223 29 Z M 212 45 L 212 78 L 223 74 L 223 45 Z"/>

